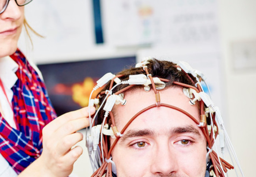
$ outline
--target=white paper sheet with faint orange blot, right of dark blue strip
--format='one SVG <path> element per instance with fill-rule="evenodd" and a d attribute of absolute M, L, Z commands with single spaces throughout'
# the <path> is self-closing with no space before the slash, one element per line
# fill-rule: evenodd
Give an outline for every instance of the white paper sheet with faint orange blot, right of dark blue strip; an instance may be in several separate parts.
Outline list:
<path fill-rule="evenodd" d="M 101 0 L 107 44 L 212 45 L 217 0 Z"/>

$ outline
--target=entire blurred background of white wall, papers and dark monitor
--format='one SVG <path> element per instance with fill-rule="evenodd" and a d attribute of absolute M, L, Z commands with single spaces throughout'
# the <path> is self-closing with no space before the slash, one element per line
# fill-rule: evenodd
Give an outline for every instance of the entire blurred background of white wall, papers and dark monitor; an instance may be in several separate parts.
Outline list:
<path fill-rule="evenodd" d="M 32 47 L 23 33 L 19 48 L 41 70 L 59 115 L 86 106 L 106 72 L 147 56 L 187 61 L 206 75 L 244 174 L 254 176 L 255 8 L 255 0 L 34 0 L 26 19 L 45 38 L 31 34 Z M 74 175 L 87 177 L 85 140 L 79 145 Z"/>

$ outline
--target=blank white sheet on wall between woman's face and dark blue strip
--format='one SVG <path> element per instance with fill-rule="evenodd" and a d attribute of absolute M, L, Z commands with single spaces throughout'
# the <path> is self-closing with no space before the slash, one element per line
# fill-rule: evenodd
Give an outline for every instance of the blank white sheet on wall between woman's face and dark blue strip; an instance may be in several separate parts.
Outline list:
<path fill-rule="evenodd" d="M 94 46 L 90 0 L 35 0 L 25 6 L 30 26 L 45 38 L 31 33 L 36 60 L 72 59 Z M 24 30 L 23 30 L 24 32 Z M 29 41 L 22 34 L 19 48 L 28 56 Z"/>

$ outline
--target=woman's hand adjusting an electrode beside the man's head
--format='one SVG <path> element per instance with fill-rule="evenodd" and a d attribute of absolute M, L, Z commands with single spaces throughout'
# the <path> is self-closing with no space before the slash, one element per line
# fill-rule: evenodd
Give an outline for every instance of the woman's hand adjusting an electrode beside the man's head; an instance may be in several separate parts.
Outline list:
<path fill-rule="evenodd" d="M 90 107 L 90 114 L 95 112 Z M 74 162 L 83 152 L 76 143 L 83 139 L 80 132 L 89 126 L 88 107 L 63 114 L 43 129 L 43 151 L 41 156 L 28 166 L 22 176 L 67 177 L 73 170 Z"/>

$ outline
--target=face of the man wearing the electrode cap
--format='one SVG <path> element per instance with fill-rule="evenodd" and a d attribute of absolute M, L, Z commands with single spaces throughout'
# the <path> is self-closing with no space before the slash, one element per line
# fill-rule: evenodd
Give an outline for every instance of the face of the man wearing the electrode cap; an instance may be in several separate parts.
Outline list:
<path fill-rule="evenodd" d="M 162 103 L 181 108 L 199 120 L 182 88 L 160 91 Z M 125 93 L 127 104 L 114 107 L 118 131 L 143 108 L 155 104 L 153 91 Z M 113 139 L 111 143 L 113 143 Z M 196 123 L 177 110 L 160 107 L 135 118 L 112 152 L 118 177 L 204 177 L 206 140 Z"/>

